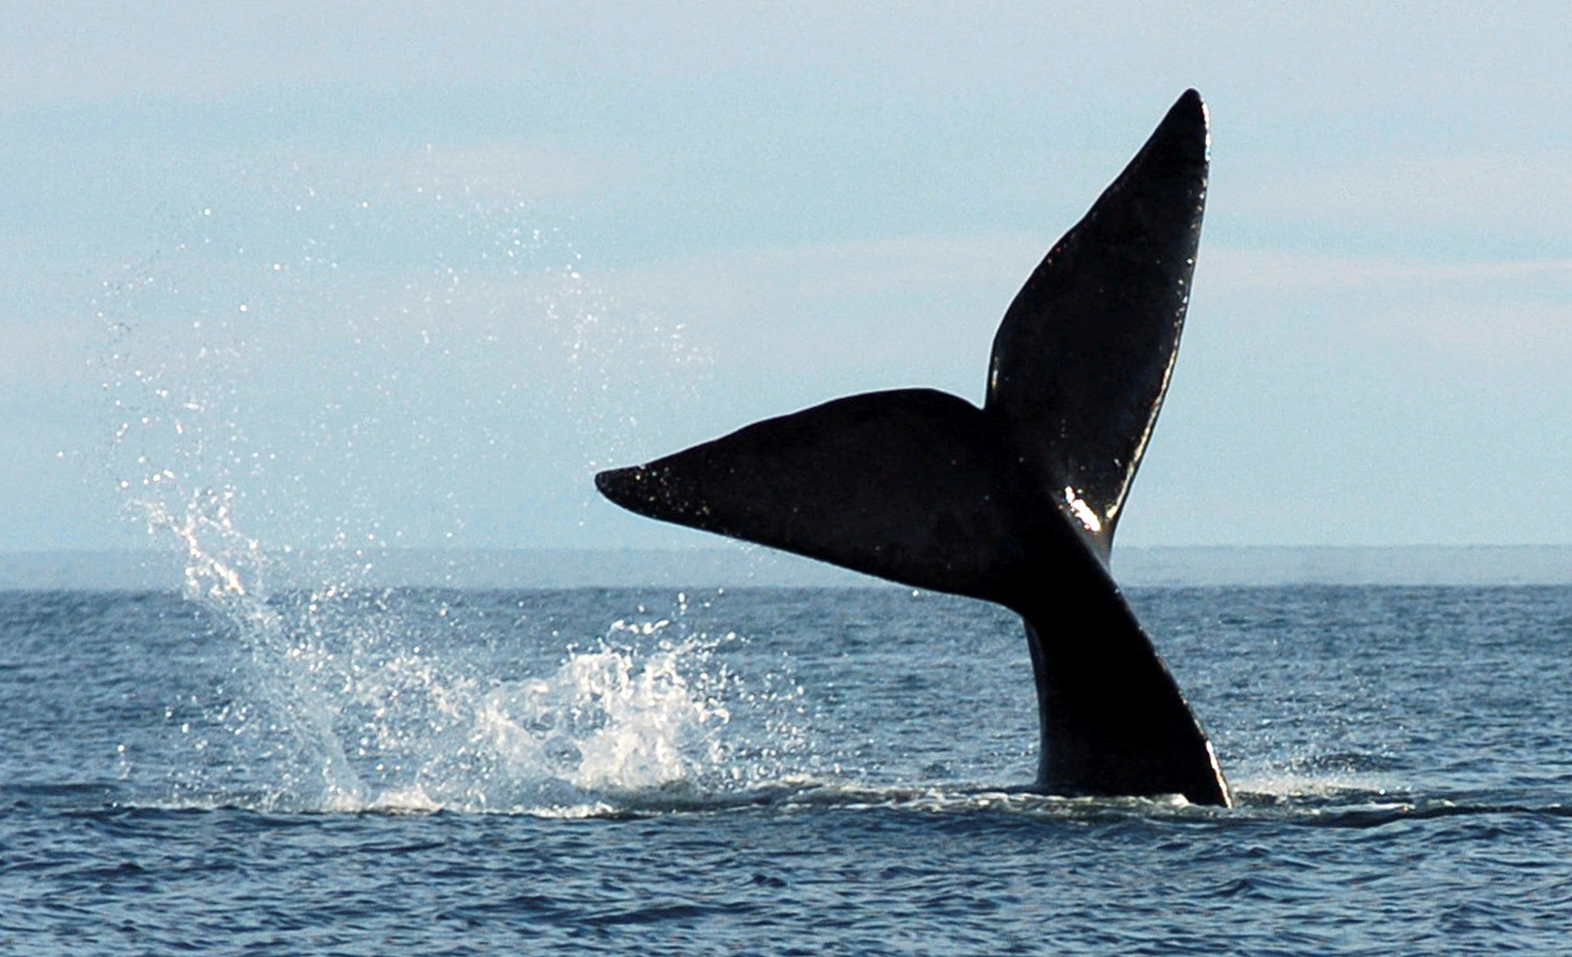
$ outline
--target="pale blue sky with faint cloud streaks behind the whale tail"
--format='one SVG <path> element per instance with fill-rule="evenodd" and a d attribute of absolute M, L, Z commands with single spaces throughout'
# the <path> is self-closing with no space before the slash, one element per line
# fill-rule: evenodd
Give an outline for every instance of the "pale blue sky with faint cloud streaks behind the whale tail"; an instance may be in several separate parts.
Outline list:
<path fill-rule="evenodd" d="M 0 17 L 0 552 L 711 544 L 593 473 L 981 401 L 1188 86 L 1206 226 L 1119 544 L 1572 544 L 1566 5 Z"/>

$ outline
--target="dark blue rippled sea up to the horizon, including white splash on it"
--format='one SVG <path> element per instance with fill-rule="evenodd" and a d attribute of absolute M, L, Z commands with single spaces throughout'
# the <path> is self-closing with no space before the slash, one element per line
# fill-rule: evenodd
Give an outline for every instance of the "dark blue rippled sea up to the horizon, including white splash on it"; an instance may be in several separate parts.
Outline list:
<path fill-rule="evenodd" d="M 1012 794 L 899 588 L 0 592 L 0 951 L 1482 954 L 1572 940 L 1572 589 L 1148 589 L 1234 809 Z"/>

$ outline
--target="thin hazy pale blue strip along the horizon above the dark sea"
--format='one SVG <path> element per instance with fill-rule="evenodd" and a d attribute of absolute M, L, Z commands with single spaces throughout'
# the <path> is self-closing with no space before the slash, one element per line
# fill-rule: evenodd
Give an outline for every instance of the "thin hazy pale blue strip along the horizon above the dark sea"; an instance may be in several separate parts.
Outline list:
<path fill-rule="evenodd" d="M 162 552 L 0 553 L 0 589 L 171 591 L 184 559 Z M 1572 545 L 1116 548 L 1126 588 L 1265 585 L 1572 585 Z M 877 586 L 877 578 L 755 547 L 509 548 L 292 553 L 269 561 L 267 588 L 329 583 L 435 588 Z"/>

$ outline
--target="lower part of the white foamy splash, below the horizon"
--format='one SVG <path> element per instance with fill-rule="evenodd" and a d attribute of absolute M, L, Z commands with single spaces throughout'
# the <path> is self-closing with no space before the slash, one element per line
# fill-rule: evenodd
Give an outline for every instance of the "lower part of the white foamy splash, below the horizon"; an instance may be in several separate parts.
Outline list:
<path fill-rule="evenodd" d="M 272 746 L 266 806 L 305 809 L 542 811 L 695 792 L 737 778 L 728 739 L 744 687 L 715 660 L 734 635 L 668 619 L 615 622 L 555 666 L 503 665 L 476 649 L 445 592 L 327 589 L 222 610 L 253 649 L 259 709 L 222 715 Z M 396 607 L 402 605 L 402 607 Z M 417 619 L 417 614 L 420 616 Z M 446 624 L 454 618 L 453 624 Z M 539 649 L 531 649 L 539 651 Z"/>

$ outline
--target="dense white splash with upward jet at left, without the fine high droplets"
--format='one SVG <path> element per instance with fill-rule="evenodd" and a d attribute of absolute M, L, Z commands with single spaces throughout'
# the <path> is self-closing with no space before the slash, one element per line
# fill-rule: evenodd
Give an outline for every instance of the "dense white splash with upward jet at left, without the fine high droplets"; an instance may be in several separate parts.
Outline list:
<path fill-rule="evenodd" d="M 552 646 L 517 633 L 527 614 L 498 629 L 476 619 L 467 592 L 327 585 L 269 596 L 263 572 L 281 561 L 234 526 L 226 501 L 196 497 L 181 515 L 145 503 L 185 548 L 187 599 L 242 651 L 231 676 L 242 698 L 211 709 L 195 740 L 198 751 L 215 735 L 241 750 L 212 750 L 220 764 L 181 775 L 181 801 L 604 812 L 651 792 L 756 787 L 802 740 L 800 687 L 734 674 L 718 652 L 744 640 L 690 627 L 682 594 L 668 616 L 618 619 L 553 662 Z M 734 707 L 764 717 L 753 729 L 762 745 L 731 734 Z"/>

